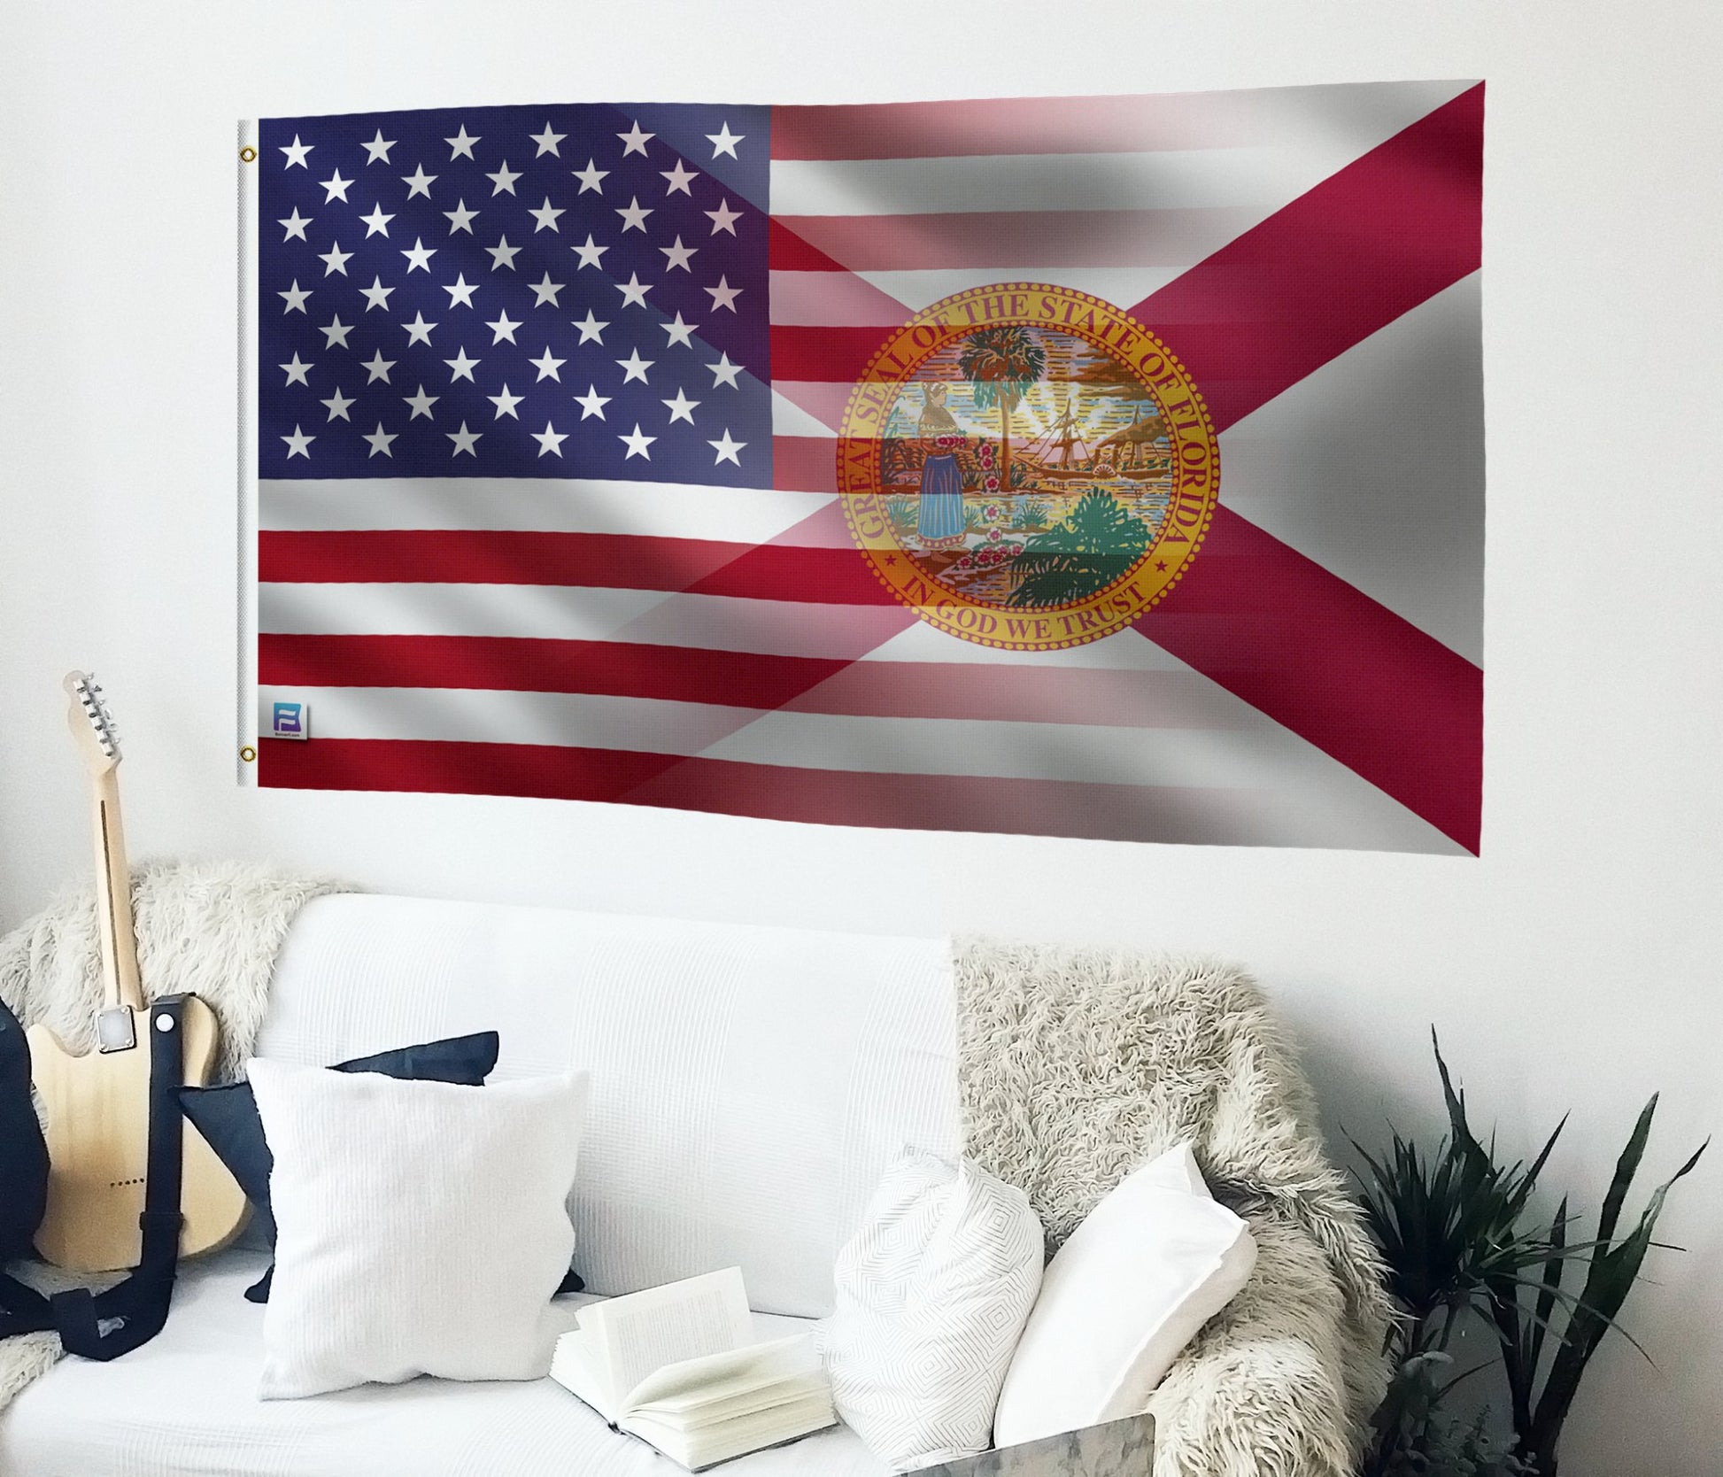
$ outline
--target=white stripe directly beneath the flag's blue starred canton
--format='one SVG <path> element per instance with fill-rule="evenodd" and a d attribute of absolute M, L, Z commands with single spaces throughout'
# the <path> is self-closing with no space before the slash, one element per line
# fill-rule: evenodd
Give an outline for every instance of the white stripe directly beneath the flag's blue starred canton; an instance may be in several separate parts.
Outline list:
<path fill-rule="evenodd" d="M 262 527 L 279 531 L 496 529 L 765 543 L 832 493 L 550 477 L 351 477 L 260 483 Z"/>

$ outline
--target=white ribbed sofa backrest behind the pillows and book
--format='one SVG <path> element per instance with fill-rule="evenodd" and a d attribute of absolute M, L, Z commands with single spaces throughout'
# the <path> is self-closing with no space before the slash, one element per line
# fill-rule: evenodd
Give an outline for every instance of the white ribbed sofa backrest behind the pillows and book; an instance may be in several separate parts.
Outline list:
<path fill-rule="evenodd" d="M 591 1072 L 574 1220 L 594 1293 L 739 1265 L 756 1308 L 824 1317 L 880 1165 L 960 1148 L 939 939 L 319 898 L 257 1051 L 324 1065 L 488 1029 L 493 1084 Z"/>

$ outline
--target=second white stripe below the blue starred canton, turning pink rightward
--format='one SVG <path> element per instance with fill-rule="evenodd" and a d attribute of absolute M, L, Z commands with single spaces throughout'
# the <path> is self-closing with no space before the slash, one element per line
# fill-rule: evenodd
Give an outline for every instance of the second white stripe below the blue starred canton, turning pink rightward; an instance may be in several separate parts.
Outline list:
<path fill-rule="evenodd" d="M 555 584 L 260 584 L 258 619 L 262 631 L 284 636 L 644 641 L 779 657 L 860 655 L 903 620 L 887 605 Z"/>

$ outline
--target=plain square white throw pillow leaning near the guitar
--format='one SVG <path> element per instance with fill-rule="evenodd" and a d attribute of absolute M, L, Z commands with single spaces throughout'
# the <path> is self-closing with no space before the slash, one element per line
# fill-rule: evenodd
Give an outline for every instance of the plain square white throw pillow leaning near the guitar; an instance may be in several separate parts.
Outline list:
<path fill-rule="evenodd" d="M 586 1074 L 465 1087 L 253 1060 L 274 1155 L 262 1399 L 538 1379 L 562 1327 Z"/>

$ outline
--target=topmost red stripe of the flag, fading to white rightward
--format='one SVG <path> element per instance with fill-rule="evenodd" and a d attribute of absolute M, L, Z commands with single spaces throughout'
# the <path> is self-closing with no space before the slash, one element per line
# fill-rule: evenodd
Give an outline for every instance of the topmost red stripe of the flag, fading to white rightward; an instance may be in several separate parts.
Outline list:
<path fill-rule="evenodd" d="M 772 109 L 772 159 L 1135 153 L 1263 143 L 1270 97 L 1249 91 L 977 98 Z"/>

